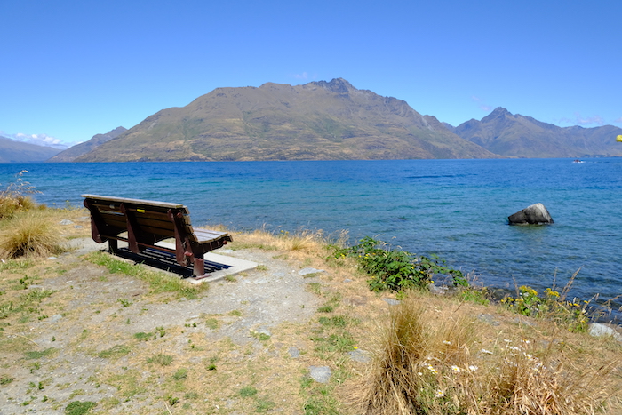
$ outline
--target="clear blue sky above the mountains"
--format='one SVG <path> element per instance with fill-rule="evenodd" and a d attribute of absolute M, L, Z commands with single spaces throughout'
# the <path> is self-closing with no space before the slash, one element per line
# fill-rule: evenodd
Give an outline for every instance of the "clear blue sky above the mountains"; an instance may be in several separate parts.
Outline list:
<path fill-rule="evenodd" d="M 622 126 L 620 16 L 620 0 L 0 0 L 0 134 L 73 143 L 218 87 L 335 77 L 453 125 L 504 107 Z"/>

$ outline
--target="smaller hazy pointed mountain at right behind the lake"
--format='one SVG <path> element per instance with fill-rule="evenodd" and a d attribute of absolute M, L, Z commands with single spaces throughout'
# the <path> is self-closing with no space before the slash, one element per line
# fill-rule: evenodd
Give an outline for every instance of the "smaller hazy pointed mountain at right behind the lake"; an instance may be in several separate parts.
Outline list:
<path fill-rule="evenodd" d="M 622 156 L 622 146 L 616 143 L 616 136 L 622 134 L 622 128 L 613 125 L 558 127 L 530 116 L 511 114 L 500 107 L 482 121 L 472 119 L 449 129 L 499 156 Z"/>

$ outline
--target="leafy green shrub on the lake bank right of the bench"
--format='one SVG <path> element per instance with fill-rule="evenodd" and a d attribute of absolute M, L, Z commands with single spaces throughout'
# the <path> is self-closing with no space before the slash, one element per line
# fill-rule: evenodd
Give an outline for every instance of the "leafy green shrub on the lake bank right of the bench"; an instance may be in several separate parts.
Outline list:
<path fill-rule="evenodd" d="M 427 289 L 434 275 L 448 275 L 454 285 L 467 286 L 461 271 L 446 267 L 443 259 L 416 256 L 408 251 L 386 249 L 387 243 L 369 236 L 350 248 L 337 248 L 335 258 L 353 257 L 372 278 L 371 291 L 406 291 Z"/>

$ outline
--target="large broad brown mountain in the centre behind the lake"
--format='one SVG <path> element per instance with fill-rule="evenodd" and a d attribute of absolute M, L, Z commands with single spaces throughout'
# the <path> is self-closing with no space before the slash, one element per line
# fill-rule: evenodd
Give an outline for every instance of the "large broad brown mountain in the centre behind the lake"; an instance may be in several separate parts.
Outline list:
<path fill-rule="evenodd" d="M 434 116 L 346 80 L 218 88 L 76 162 L 490 158 Z"/>

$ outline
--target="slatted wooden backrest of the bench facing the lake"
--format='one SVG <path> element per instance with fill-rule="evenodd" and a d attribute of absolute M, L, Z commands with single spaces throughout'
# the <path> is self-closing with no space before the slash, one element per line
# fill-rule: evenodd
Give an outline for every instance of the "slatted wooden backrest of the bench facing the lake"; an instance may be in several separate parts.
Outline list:
<path fill-rule="evenodd" d="M 156 243 L 175 236 L 175 222 L 188 238 L 196 241 L 190 212 L 183 204 L 169 204 L 152 200 L 122 197 L 82 195 L 84 206 L 97 221 L 99 233 L 105 238 L 115 238 L 128 231 L 128 220 L 143 243 Z"/>

